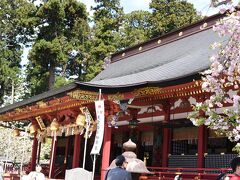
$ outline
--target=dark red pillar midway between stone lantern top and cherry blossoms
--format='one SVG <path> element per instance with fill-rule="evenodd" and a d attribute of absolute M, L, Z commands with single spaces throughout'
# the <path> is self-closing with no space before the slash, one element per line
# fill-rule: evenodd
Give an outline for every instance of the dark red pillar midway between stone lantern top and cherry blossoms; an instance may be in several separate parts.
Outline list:
<path fill-rule="evenodd" d="M 170 104 L 164 103 L 164 122 L 170 121 Z M 163 128 L 163 145 L 162 145 L 162 167 L 168 166 L 168 154 L 170 153 L 171 131 L 169 128 Z"/>

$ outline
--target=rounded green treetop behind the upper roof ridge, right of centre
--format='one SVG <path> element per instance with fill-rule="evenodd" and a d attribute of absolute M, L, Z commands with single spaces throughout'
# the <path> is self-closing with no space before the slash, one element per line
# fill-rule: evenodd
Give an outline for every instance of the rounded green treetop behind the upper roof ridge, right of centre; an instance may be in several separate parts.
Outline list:
<path fill-rule="evenodd" d="M 200 19 L 193 4 L 186 0 L 152 0 L 152 37 L 191 24 Z"/>

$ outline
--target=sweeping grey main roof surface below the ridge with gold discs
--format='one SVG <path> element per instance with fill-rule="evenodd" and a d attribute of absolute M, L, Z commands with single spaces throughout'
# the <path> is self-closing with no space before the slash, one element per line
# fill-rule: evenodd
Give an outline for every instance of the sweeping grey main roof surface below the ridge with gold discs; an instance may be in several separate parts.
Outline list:
<path fill-rule="evenodd" d="M 210 44 L 219 41 L 212 28 L 113 62 L 90 83 L 116 86 L 164 82 L 197 74 L 210 65 Z"/>

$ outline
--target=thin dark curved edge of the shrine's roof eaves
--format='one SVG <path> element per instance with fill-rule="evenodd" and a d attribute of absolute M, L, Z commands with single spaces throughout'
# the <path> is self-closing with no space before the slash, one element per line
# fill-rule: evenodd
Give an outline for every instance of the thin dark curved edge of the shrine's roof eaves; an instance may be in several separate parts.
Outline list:
<path fill-rule="evenodd" d="M 87 90 L 92 92 L 98 92 L 99 89 L 101 89 L 103 94 L 113 94 L 117 92 L 120 92 L 120 93 L 130 92 L 134 89 L 147 87 L 147 86 L 167 87 L 172 85 L 179 85 L 182 83 L 191 82 L 193 79 L 197 80 L 199 78 L 200 78 L 199 74 L 194 74 L 188 77 L 172 79 L 169 81 L 145 81 L 141 83 L 126 84 L 126 85 L 102 85 L 102 84 L 93 84 L 91 82 L 85 83 L 85 82 L 76 81 L 74 83 L 68 84 L 61 88 L 53 89 L 53 90 L 44 92 L 42 94 L 33 96 L 29 99 L 5 106 L 0 109 L 0 114 L 4 114 L 9 111 L 15 110 L 16 108 L 22 108 L 22 107 L 34 105 L 39 101 L 48 101 L 54 98 L 63 97 L 63 96 L 66 96 L 68 92 L 75 89 Z"/>

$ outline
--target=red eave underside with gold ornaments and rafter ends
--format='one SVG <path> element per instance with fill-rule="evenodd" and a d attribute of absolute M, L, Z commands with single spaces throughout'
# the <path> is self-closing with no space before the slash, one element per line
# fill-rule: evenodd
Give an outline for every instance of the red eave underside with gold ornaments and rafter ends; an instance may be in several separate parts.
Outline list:
<path fill-rule="evenodd" d="M 84 90 L 83 90 L 84 89 Z M 26 104 L 18 108 L 10 109 L 0 114 L 1 121 L 22 121 L 31 120 L 36 116 L 54 115 L 56 113 L 73 110 L 79 111 L 81 106 L 93 105 L 98 99 L 99 93 L 88 91 L 81 86 L 74 88 L 61 97 L 54 97 L 51 100 L 39 100 L 38 102 Z M 134 99 L 132 105 L 145 106 L 154 103 L 161 103 L 177 98 L 187 98 L 190 96 L 202 96 L 200 81 L 192 81 L 175 86 L 157 87 L 135 87 L 135 89 L 126 92 L 115 92 L 111 94 L 103 93 L 103 98 L 107 102 L 116 102 L 121 100 Z"/>

